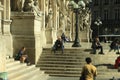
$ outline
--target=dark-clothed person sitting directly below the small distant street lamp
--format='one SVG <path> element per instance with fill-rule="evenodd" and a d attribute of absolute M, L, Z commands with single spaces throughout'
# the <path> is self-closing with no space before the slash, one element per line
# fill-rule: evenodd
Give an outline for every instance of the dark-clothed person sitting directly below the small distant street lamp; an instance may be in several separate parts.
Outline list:
<path fill-rule="evenodd" d="M 96 37 L 93 42 L 92 42 L 92 49 L 93 49 L 93 54 L 96 54 L 96 50 L 97 49 L 100 49 L 100 54 L 104 54 L 103 53 L 103 47 L 102 45 L 100 44 L 100 41 L 99 41 L 99 38 Z"/>

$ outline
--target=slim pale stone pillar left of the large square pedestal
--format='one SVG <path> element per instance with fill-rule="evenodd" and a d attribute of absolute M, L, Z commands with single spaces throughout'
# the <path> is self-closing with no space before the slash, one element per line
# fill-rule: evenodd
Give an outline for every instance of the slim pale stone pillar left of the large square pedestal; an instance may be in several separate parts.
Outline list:
<path fill-rule="evenodd" d="M 12 36 L 10 33 L 10 0 L 4 0 L 4 16 L 3 16 L 3 35 L 4 35 L 4 40 L 7 42 L 5 44 L 5 49 L 6 49 L 6 55 L 13 57 L 13 43 L 12 43 Z"/>

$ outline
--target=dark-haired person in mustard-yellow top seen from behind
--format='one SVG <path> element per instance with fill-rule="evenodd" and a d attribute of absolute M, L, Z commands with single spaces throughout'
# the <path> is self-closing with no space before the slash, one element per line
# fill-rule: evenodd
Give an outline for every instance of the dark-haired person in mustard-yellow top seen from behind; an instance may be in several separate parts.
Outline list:
<path fill-rule="evenodd" d="M 97 68 L 92 65 L 90 57 L 87 57 L 85 61 L 87 64 L 84 65 L 81 72 L 81 76 L 84 79 L 81 78 L 80 80 L 95 80 L 95 77 L 97 76 Z"/>

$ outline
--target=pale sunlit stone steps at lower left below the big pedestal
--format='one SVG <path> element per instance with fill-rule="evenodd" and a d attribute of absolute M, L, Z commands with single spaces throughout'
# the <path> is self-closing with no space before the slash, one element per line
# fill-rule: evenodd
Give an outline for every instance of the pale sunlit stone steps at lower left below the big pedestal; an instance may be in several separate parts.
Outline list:
<path fill-rule="evenodd" d="M 13 58 L 6 60 L 6 71 L 8 80 L 47 80 L 48 75 L 35 65 L 27 66 L 20 61 L 14 61 Z"/>

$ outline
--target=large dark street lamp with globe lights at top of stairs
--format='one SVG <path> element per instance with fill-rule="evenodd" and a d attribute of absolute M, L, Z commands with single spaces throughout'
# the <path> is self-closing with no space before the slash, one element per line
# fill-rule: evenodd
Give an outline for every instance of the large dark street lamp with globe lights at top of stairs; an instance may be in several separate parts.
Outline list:
<path fill-rule="evenodd" d="M 81 47 L 80 42 L 79 42 L 79 36 L 78 36 L 78 26 L 79 26 L 79 13 L 80 10 L 85 9 L 85 3 L 83 0 L 71 0 L 68 4 L 68 7 L 73 10 L 73 12 L 75 13 L 75 19 L 76 19 L 76 23 L 75 23 L 75 40 L 74 40 L 74 44 L 72 45 L 72 47 Z"/>

